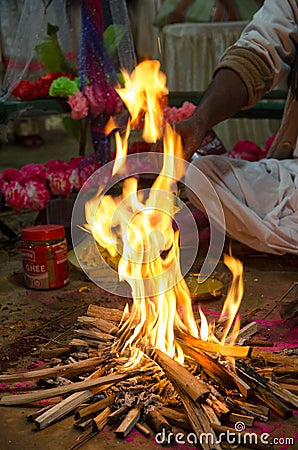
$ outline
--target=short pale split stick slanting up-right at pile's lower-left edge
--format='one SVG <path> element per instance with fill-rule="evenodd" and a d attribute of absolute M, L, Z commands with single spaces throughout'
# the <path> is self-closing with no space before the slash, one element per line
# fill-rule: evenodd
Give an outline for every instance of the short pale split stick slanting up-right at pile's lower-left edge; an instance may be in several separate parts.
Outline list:
<path fill-rule="evenodd" d="M 93 394 L 86 390 L 82 392 L 75 392 L 69 397 L 62 400 L 62 402 L 53 406 L 49 411 L 44 412 L 34 421 L 37 430 L 43 430 L 57 420 L 69 414 L 81 403 L 90 400 Z"/>

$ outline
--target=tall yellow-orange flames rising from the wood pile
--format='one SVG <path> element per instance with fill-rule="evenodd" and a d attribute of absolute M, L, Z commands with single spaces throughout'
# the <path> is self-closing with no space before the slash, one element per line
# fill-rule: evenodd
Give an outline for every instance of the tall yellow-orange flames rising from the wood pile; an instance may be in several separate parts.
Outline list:
<path fill-rule="evenodd" d="M 166 77 L 159 71 L 158 61 L 144 61 L 131 75 L 124 72 L 123 77 L 125 87 L 117 92 L 130 113 L 130 120 L 126 131 L 115 135 L 113 175 L 121 174 L 125 167 L 130 130 L 141 116 L 144 140 L 156 142 L 162 136 L 161 99 L 168 93 Z M 112 122 L 109 127 L 113 128 Z M 191 298 L 180 269 L 179 233 L 173 228 L 173 217 L 178 211 L 176 180 L 183 176 L 185 163 L 177 158 L 182 149 L 181 138 L 169 125 L 164 127 L 163 143 L 163 167 L 149 192 L 138 190 L 137 179 L 130 177 L 124 179 L 120 196 L 101 195 L 102 186 L 97 196 L 86 204 L 89 230 L 111 256 L 120 255 L 119 279 L 131 287 L 132 307 L 130 311 L 126 307 L 116 344 L 118 351 L 129 350 L 129 366 L 140 362 L 142 345 L 160 349 L 183 363 L 183 352 L 175 340 L 174 330 L 198 337 Z M 233 258 L 227 259 L 227 264 L 232 268 Z M 241 301 L 239 277 L 237 272 L 238 281 L 234 280 L 233 291 L 223 309 L 223 315 L 228 315 L 229 320 L 222 343 Z M 215 339 L 202 312 L 201 338 Z"/>

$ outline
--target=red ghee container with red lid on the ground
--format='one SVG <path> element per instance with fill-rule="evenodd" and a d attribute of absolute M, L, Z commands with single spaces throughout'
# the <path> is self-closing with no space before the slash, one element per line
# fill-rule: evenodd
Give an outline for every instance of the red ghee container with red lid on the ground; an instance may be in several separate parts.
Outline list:
<path fill-rule="evenodd" d="M 63 225 L 37 225 L 22 230 L 25 286 L 55 289 L 69 281 L 67 242 Z"/>

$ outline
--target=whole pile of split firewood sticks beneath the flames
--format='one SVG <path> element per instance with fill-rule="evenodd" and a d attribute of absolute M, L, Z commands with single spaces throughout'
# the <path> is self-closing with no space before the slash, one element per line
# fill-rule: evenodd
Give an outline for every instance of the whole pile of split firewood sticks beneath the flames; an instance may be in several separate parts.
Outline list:
<path fill-rule="evenodd" d="M 87 315 L 78 318 L 67 346 L 42 352 L 48 367 L 0 375 L 1 383 L 35 383 L 29 392 L 3 395 L 0 405 L 52 399 L 27 418 L 42 430 L 73 414 L 74 427 L 81 433 L 69 449 L 79 448 L 106 425 L 113 425 L 119 438 L 137 428 L 146 436 L 159 433 L 163 443 L 170 443 L 182 429 L 198 438 L 209 436 L 199 441 L 204 450 L 220 449 L 216 436 L 221 434 L 222 439 L 229 431 L 235 433 L 232 423 L 251 427 L 254 421 L 268 421 L 270 411 L 287 419 L 298 408 L 291 382 L 297 376 L 297 358 L 239 345 L 252 343 L 254 322 L 240 330 L 236 345 L 222 346 L 176 331 L 185 354 L 183 366 L 144 345 L 141 367 L 126 367 L 129 355 L 119 355 L 115 345 L 122 316 L 120 310 L 90 305 Z M 216 329 L 220 334 L 221 324 Z M 230 357 L 235 358 L 234 369 Z M 241 440 L 244 431 L 238 435 Z M 261 441 L 243 439 L 241 444 L 268 450 Z"/>

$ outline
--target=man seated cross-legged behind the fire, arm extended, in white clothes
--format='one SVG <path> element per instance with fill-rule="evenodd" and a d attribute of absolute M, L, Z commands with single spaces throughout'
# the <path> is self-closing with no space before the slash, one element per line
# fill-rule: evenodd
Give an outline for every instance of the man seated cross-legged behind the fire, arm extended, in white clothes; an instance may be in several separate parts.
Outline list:
<path fill-rule="evenodd" d="M 223 55 L 194 114 L 176 124 L 191 159 L 207 130 L 259 101 L 291 73 L 291 86 L 269 158 L 258 162 L 203 156 L 188 170 L 189 199 L 216 221 L 207 176 L 219 196 L 227 234 L 256 250 L 298 254 L 298 5 L 265 0 Z M 220 224 L 218 224 L 220 226 Z M 223 225 L 223 224 L 222 224 Z"/>

